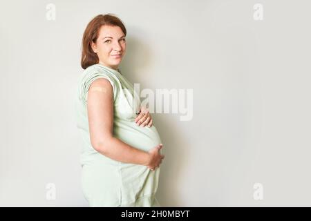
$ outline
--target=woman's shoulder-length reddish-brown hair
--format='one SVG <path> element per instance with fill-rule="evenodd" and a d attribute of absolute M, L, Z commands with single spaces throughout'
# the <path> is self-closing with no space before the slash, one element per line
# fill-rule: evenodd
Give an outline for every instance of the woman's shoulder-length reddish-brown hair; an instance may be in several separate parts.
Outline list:
<path fill-rule="evenodd" d="M 91 41 L 96 43 L 100 27 L 102 26 L 119 26 L 124 35 L 126 36 L 126 28 L 118 17 L 109 13 L 106 15 L 97 15 L 86 26 L 82 39 L 82 57 L 81 66 L 86 69 L 88 66 L 98 64 L 99 59 L 95 52 L 91 48 Z"/>

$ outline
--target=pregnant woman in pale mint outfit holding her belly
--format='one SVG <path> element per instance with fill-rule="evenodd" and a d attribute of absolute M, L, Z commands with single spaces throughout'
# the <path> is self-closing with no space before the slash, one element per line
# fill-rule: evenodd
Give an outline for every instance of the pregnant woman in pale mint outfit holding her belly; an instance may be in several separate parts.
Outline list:
<path fill-rule="evenodd" d="M 160 206 L 155 195 L 162 144 L 133 84 L 118 69 L 125 37 L 122 21 L 107 14 L 92 19 L 82 39 L 85 70 L 76 108 L 84 142 L 82 190 L 90 206 Z"/>

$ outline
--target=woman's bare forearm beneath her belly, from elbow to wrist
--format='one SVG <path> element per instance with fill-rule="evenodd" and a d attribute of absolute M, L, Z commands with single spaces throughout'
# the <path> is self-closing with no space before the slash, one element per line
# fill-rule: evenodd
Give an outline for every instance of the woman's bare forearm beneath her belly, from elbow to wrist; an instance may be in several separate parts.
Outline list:
<path fill-rule="evenodd" d="M 133 146 L 130 146 L 116 137 L 111 137 L 105 144 L 100 145 L 97 151 L 111 158 L 112 160 L 130 163 L 140 164 L 147 166 L 149 162 L 149 153 L 140 151 Z"/>

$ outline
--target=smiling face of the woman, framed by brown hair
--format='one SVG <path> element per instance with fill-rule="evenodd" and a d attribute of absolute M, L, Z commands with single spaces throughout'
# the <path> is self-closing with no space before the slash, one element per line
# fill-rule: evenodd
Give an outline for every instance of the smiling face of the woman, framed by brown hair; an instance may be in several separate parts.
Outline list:
<path fill-rule="evenodd" d="M 117 70 L 126 51 L 126 39 L 119 26 L 102 26 L 96 43 L 91 47 L 99 58 L 99 64 Z"/>

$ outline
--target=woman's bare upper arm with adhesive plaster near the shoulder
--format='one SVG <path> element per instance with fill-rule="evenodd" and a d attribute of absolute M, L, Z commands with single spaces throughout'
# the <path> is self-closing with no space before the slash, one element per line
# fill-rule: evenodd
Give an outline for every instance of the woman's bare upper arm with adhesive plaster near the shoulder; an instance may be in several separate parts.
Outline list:
<path fill-rule="evenodd" d="M 87 99 L 91 144 L 96 151 L 104 150 L 113 137 L 113 87 L 109 80 L 93 81 Z"/>

